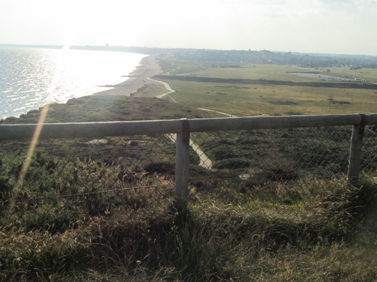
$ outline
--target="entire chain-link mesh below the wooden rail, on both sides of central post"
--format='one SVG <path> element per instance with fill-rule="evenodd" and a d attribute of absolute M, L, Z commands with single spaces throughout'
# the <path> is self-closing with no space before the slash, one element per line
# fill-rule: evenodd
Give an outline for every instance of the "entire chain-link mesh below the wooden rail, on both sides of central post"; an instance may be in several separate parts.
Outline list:
<path fill-rule="evenodd" d="M 189 203 L 315 205 L 346 181 L 351 133 L 352 126 L 192 132 Z M 54 233 L 98 215 L 167 208 L 175 142 L 175 133 L 0 141 L 0 224 Z M 367 126 L 367 173 L 377 171 L 376 148 L 377 126 Z"/>

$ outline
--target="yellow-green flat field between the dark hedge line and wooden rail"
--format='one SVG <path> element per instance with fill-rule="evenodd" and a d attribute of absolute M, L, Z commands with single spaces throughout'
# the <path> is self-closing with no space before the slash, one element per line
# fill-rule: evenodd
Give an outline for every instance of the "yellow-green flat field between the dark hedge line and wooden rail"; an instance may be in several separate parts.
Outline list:
<path fill-rule="evenodd" d="M 372 89 L 325 88 L 284 85 L 248 85 L 169 80 L 178 89 L 172 94 L 178 103 L 192 108 L 207 108 L 238 116 L 299 114 L 374 113 L 377 94 Z M 349 104 L 334 104 L 332 100 Z M 292 101 L 296 105 L 275 105 Z M 271 103 L 272 102 L 272 103 Z"/>

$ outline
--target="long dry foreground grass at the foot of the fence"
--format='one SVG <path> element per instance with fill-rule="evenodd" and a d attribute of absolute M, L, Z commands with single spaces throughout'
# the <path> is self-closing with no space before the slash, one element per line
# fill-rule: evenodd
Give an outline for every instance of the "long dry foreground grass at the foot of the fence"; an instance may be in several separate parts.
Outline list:
<path fill-rule="evenodd" d="M 292 281 L 376 279 L 377 185 L 336 190 L 311 208 L 280 212 L 220 200 L 123 209 L 80 218 L 64 232 L 2 226 L 2 280 Z M 120 205 L 120 211 L 116 208 Z"/>

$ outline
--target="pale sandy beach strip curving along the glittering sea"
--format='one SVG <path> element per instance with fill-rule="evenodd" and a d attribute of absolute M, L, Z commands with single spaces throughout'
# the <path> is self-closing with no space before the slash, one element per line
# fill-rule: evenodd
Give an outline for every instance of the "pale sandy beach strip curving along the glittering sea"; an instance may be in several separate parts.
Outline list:
<path fill-rule="evenodd" d="M 161 72 L 158 61 L 155 56 L 147 56 L 141 59 L 141 64 L 136 67 L 129 76 L 128 80 L 116 85 L 108 85 L 112 87 L 109 90 L 100 91 L 93 95 L 125 95 L 130 96 L 147 82 L 147 77 L 153 76 Z"/>

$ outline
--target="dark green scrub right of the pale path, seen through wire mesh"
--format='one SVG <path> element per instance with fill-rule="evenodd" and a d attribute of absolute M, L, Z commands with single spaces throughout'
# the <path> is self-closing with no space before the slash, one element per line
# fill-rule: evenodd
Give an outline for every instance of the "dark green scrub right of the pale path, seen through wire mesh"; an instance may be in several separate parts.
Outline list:
<path fill-rule="evenodd" d="M 348 167 L 347 139 L 350 135 L 349 127 L 329 127 L 203 132 L 193 136 L 193 140 L 214 161 L 216 168 L 240 168 L 244 172 L 250 168 L 255 172 L 280 164 L 296 171 L 324 168 L 325 171 L 344 173 Z M 373 146 L 377 138 L 373 130 L 370 138 L 365 140 L 366 147 Z M 234 164 L 242 159 L 244 163 Z M 374 161 L 370 158 L 366 162 L 372 164 Z"/>

